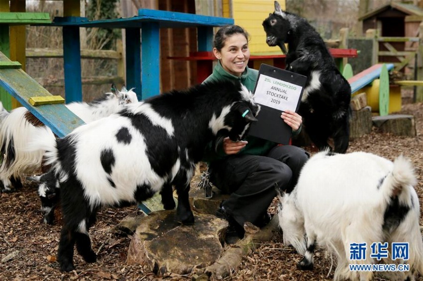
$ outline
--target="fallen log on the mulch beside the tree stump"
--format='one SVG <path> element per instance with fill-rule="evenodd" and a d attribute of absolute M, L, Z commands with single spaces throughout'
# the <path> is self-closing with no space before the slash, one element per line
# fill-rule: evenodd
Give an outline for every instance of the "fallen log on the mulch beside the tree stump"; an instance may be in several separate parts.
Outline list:
<path fill-rule="evenodd" d="M 261 230 L 246 229 L 243 239 L 227 249 L 214 264 L 199 271 L 198 276 L 193 280 L 203 281 L 209 280 L 211 277 L 215 280 L 222 280 L 228 277 L 233 270 L 241 265 L 242 259 L 252 252 L 255 248 L 254 244 L 269 241 L 278 227 L 279 219 L 277 215 L 274 215 L 270 223 Z M 251 228 L 251 226 L 248 228 Z"/>

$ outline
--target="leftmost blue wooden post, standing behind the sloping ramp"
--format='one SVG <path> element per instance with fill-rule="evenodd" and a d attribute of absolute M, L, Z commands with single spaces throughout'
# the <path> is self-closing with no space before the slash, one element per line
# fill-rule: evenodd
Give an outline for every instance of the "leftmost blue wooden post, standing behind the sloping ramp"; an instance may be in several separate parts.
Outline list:
<path fill-rule="evenodd" d="M 63 27 L 63 66 L 66 102 L 82 101 L 81 48 L 78 26 Z"/>

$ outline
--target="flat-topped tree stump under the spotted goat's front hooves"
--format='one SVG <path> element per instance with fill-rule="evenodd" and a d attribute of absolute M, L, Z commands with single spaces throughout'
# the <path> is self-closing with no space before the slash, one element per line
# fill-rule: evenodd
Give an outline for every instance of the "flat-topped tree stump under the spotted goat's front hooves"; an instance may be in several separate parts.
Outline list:
<path fill-rule="evenodd" d="M 158 276 L 187 274 L 212 265 L 222 254 L 225 220 L 194 212 L 195 223 L 175 221 L 175 210 L 142 217 L 129 244 L 127 263 L 146 266 Z"/>

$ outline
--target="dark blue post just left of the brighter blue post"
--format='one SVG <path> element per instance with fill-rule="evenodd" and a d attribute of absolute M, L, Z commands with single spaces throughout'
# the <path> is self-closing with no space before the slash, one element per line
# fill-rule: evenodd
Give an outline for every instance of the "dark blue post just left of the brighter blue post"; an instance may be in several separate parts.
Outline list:
<path fill-rule="evenodd" d="M 139 28 L 126 28 L 126 88 L 135 88 L 138 100 L 141 92 L 141 32 Z M 145 58 L 148 60 L 148 58 Z"/>

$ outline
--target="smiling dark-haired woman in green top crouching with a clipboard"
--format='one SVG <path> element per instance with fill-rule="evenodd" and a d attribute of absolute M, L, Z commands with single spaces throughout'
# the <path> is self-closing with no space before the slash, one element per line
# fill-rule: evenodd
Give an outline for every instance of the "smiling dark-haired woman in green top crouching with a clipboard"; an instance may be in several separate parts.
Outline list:
<path fill-rule="evenodd" d="M 239 80 L 253 92 L 258 71 L 247 67 L 248 33 L 238 25 L 222 27 L 215 34 L 213 45 L 218 61 L 204 82 Z M 299 114 L 287 110 L 281 113 L 281 118 L 292 127 L 294 135 L 300 132 L 302 117 Z M 269 222 L 267 209 L 276 196 L 275 187 L 292 191 L 308 159 L 309 153 L 299 147 L 281 146 L 252 136 L 238 142 L 225 138 L 217 153 L 211 145 L 208 147 L 205 161 L 209 163 L 210 181 L 230 193 L 216 213 L 229 222 L 226 243 L 232 244 L 244 237 L 244 222 L 260 227 Z"/>

